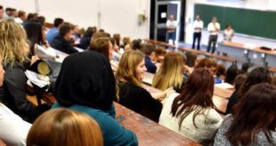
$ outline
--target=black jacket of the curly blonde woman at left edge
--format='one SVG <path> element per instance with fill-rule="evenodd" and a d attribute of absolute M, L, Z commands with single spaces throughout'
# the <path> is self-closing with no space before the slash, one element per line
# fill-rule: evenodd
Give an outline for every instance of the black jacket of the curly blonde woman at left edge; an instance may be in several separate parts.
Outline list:
<path fill-rule="evenodd" d="M 4 65 L 4 71 L 4 83 L 0 87 L 1 103 L 28 122 L 32 122 L 42 112 L 48 110 L 46 105 L 35 107 L 28 102 L 26 98 L 27 77 L 25 76 L 25 67 L 23 65 L 6 64 Z"/>

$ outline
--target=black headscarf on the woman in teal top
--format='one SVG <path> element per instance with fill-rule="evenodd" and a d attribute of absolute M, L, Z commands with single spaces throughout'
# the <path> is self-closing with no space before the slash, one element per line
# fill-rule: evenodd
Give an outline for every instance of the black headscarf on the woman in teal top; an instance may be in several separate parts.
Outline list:
<path fill-rule="evenodd" d="M 104 111 L 110 109 L 115 95 L 110 61 L 101 53 L 85 51 L 64 59 L 54 88 L 59 104 L 80 104 Z"/>

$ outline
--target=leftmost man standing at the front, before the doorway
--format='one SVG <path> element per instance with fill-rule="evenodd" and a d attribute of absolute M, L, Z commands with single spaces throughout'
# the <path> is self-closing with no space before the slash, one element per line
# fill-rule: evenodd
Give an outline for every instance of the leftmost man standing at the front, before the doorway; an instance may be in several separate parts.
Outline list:
<path fill-rule="evenodd" d="M 173 40 L 173 43 L 175 43 L 176 27 L 175 16 L 170 15 L 170 18 L 166 21 L 167 42 Z"/>

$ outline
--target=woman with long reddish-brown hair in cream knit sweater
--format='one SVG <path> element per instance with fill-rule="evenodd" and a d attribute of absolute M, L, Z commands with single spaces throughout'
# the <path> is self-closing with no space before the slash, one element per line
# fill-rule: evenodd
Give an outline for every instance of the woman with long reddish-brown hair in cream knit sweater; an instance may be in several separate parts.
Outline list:
<path fill-rule="evenodd" d="M 181 95 L 168 97 L 159 124 L 200 144 L 211 144 L 223 120 L 215 111 L 213 91 L 213 75 L 204 68 L 196 69 Z"/>

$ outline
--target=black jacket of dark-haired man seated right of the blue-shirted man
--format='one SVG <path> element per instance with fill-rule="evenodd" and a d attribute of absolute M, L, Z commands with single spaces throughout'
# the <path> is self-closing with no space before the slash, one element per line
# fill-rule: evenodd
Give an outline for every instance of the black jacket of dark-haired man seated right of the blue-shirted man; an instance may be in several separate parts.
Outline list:
<path fill-rule="evenodd" d="M 72 54 L 78 52 L 75 48 L 70 44 L 70 42 L 66 41 L 61 35 L 57 35 L 52 42 L 52 46 L 56 50 L 61 50 L 65 53 Z"/>

